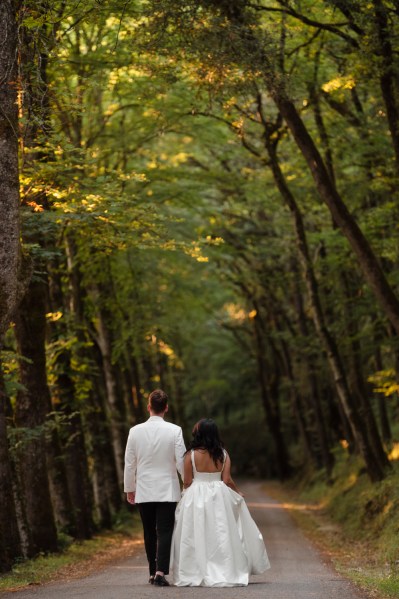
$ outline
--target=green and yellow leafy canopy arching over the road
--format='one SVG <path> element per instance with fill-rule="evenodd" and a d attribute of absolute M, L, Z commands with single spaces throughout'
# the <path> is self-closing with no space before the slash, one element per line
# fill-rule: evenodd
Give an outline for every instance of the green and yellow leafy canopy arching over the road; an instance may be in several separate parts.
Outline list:
<path fill-rule="evenodd" d="M 40 97 L 49 104 L 35 113 L 35 127 L 29 111 L 21 121 L 22 227 L 34 276 L 48 275 L 49 290 L 57 287 L 47 315 L 57 409 L 61 375 L 72 383 L 72 412 L 88 415 L 91 395 L 106 397 L 105 323 L 129 420 L 139 413 L 132 414 L 131 389 L 145 408 L 146 394 L 162 384 L 188 432 L 198 418 L 214 417 L 227 443 L 245 446 L 235 455 L 238 470 L 273 475 L 259 358 L 296 466 L 306 459 L 295 393 L 313 459 L 315 394 L 330 445 L 344 433 L 268 136 L 303 216 L 321 307 L 351 391 L 378 372 L 393 373 L 393 389 L 398 349 L 273 93 L 293 99 L 395 289 L 397 170 L 372 4 L 345 14 L 323 0 L 260 2 L 257 10 L 240 2 L 246 39 L 232 4 L 89 0 L 71 11 L 55 2 L 47 14 L 33 6 L 21 14 L 32 60 L 38 51 L 48 59 Z M 397 24 L 388 25 L 397 68 Z M 5 364 L 14 401 L 13 353 Z M 374 402 L 367 385 L 360 393 Z M 388 416 L 397 421 L 397 410 Z"/>

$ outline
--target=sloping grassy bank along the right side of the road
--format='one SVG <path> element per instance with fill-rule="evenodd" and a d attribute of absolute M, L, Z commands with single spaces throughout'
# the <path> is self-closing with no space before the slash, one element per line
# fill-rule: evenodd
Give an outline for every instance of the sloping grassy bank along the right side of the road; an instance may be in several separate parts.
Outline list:
<path fill-rule="evenodd" d="M 340 451 L 333 484 L 318 473 L 276 490 L 335 568 L 376 599 L 399 598 L 399 462 L 392 466 L 372 484 L 360 461 Z"/>

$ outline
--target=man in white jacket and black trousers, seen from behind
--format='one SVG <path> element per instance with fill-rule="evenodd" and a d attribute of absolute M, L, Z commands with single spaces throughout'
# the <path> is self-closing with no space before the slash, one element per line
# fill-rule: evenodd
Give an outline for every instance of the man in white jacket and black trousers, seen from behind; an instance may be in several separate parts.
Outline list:
<path fill-rule="evenodd" d="M 130 429 L 125 453 L 125 493 L 137 504 L 143 523 L 150 568 L 149 582 L 169 586 L 170 546 L 176 503 L 180 500 L 178 470 L 183 476 L 186 450 L 179 426 L 164 421 L 168 396 L 161 389 L 148 398 L 149 419 Z"/>

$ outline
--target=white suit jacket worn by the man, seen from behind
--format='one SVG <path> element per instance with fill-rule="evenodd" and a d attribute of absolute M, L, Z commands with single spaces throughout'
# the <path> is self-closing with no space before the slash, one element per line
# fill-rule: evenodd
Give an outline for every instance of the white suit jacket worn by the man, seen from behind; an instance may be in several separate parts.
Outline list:
<path fill-rule="evenodd" d="M 136 503 L 179 501 L 186 451 L 180 426 L 151 416 L 130 429 L 125 452 L 125 493 Z"/>

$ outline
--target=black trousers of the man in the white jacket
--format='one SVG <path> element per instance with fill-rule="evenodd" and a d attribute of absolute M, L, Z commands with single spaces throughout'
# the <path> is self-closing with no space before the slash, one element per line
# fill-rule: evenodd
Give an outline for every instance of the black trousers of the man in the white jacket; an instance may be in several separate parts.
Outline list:
<path fill-rule="evenodd" d="M 138 503 L 144 528 L 144 545 L 150 575 L 158 570 L 169 574 L 170 545 L 175 523 L 176 503 L 148 501 Z"/>

